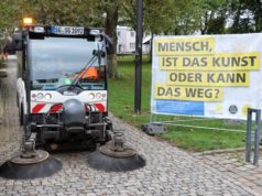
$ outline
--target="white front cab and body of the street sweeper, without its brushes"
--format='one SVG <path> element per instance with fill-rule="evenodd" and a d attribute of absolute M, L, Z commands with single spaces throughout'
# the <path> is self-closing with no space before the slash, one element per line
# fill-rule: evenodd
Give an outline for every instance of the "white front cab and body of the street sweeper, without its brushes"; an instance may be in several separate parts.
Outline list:
<path fill-rule="evenodd" d="M 37 140 L 105 143 L 108 116 L 106 37 L 100 29 L 29 26 L 18 52 L 20 123 Z"/>

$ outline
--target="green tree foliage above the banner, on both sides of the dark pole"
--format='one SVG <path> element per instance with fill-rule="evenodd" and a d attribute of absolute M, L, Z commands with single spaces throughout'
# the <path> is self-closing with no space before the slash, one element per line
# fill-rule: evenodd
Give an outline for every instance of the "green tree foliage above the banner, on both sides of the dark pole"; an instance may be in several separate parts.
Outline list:
<path fill-rule="evenodd" d="M 258 0 L 144 0 L 143 3 L 144 31 L 153 34 L 262 31 L 262 2 Z M 123 3 L 120 13 L 120 23 L 135 30 L 135 0 Z"/>

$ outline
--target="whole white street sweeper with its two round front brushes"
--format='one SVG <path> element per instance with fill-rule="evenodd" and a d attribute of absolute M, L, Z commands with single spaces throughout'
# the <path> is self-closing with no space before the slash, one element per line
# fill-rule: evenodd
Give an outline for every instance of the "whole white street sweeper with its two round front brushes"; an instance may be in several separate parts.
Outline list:
<path fill-rule="evenodd" d="M 17 104 L 24 130 L 23 150 L 0 167 L 0 176 L 50 176 L 62 163 L 44 150 L 50 143 L 88 141 L 97 146 L 88 164 L 129 171 L 144 160 L 124 144 L 108 118 L 107 55 L 111 41 L 102 29 L 26 25 L 13 36 L 18 50 Z"/>

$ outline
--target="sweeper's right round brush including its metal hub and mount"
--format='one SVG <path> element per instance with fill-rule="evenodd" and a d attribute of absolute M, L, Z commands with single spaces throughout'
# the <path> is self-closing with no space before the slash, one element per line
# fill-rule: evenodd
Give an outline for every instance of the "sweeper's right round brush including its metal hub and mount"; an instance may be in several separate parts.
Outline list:
<path fill-rule="evenodd" d="M 133 171 L 145 165 L 134 149 L 123 144 L 122 132 L 114 132 L 112 142 L 88 154 L 87 162 L 90 167 L 106 172 Z"/>

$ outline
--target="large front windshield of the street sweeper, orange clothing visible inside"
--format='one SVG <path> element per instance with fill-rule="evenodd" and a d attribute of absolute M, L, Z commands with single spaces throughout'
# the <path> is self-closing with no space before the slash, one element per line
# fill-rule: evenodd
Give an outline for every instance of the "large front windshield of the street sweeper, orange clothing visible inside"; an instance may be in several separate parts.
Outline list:
<path fill-rule="evenodd" d="M 55 90 L 70 85 L 80 75 L 84 89 L 105 89 L 106 59 L 99 66 L 95 58 L 88 69 L 83 68 L 94 57 L 94 50 L 103 50 L 103 42 L 75 37 L 45 37 L 30 40 L 31 79 L 33 89 Z"/>

